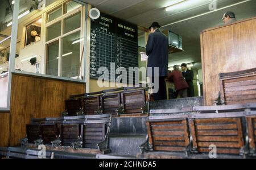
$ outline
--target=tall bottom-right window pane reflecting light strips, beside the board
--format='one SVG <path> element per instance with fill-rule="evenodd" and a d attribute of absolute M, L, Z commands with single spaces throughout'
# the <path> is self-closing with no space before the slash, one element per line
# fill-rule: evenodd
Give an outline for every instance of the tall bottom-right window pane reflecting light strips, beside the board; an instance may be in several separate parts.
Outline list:
<path fill-rule="evenodd" d="M 61 76 L 63 77 L 75 77 L 79 71 L 79 59 L 80 59 L 80 31 L 74 34 L 65 36 L 62 39 L 62 65 Z"/>

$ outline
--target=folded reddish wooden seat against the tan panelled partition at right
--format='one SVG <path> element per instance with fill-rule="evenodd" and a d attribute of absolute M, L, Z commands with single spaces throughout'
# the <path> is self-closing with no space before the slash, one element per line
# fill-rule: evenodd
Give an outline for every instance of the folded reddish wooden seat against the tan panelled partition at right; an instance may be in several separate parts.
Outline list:
<path fill-rule="evenodd" d="M 220 73 L 220 98 L 226 105 L 256 102 L 256 68 Z"/>

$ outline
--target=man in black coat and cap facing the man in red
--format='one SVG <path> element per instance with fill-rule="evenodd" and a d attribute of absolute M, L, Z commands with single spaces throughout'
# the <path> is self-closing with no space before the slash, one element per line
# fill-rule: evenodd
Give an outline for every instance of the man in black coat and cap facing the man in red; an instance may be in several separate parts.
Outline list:
<path fill-rule="evenodd" d="M 188 97 L 193 97 L 194 96 L 194 85 L 193 85 L 194 74 L 193 74 L 193 71 L 189 70 L 187 68 L 187 64 L 185 64 L 185 63 L 181 64 L 181 69 L 182 69 L 182 75 L 188 84 Z"/>

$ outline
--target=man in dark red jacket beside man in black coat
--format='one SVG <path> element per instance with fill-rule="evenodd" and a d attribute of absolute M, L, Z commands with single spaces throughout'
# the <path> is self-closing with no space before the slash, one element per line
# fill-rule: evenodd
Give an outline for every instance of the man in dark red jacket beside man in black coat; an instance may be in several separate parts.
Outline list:
<path fill-rule="evenodd" d="M 168 80 L 174 82 L 176 94 L 179 94 L 180 98 L 188 97 L 188 84 L 179 71 L 179 65 L 174 65 L 174 71 L 168 73 Z"/>

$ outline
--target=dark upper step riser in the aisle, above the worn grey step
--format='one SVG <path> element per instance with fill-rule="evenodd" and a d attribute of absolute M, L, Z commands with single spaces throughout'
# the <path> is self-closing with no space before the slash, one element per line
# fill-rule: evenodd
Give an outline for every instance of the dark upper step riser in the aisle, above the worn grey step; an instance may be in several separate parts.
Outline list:
<path fill-rule="evenodd" d="M 110 135 L 146 135 L 148 117 L 119 117 L 112 119 Z"/>

